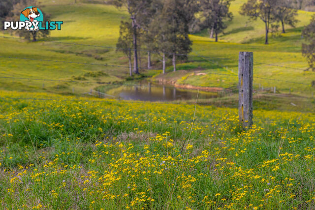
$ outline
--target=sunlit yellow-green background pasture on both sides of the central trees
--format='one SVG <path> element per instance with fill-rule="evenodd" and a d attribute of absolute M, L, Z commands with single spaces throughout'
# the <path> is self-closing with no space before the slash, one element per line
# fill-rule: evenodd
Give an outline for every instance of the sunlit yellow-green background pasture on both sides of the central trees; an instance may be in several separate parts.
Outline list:
<path fill-rule="evenodd" d="M 259 20 L 248 22 L 248 18 L 239 14 L 239 8 L 245 0 L 232 2 L 231 11 L 234 19 L 224 33 L 220 35 L 219 42 L 208 38 L 207 31 L 190 35 L 193 41 L 193 52 L 186 63 L 180 63 L 180 71 L 171 72 L 169 66 L 167 75 L 158 75 L 156 78 L 176 80 L 178 84 L 194 86 L 210 86 L 229 88 L 237 85 L 237 59 L 239 51 L 254 52 L 254 86 L 276 86 L 280 92 L 287 93 L 291 89 L 293 93 L 310 95 L 314 88 L 311 82 L 315 80 L 314 72 L 306 72 L 308 64 L 301 55 L 301 31 L 307 25 L 312 12 L 299 11 L 300 22 L 295 29 L 287 27 L 287 33 L 270 34 L 269 45 L 264 45 L 264 27 Z M 124 9 L 117 9 L 112 5 L 73 3 L 73 0 L 45 0 L 41 1 L 41 7 L 51 15 L 52 20 L 64 22 L 62 30 L 52 31 L 49 37 L 51 41 L 81 43 L 89 45 L 114 47 L 119 36 L 119 24 L 128 16 Z M 8 33 L 1 33 L 10 36 Z M 0 38 L 0 56 L 19 57 L 47 60 L 66 60 L 72 62 L 86 62 L 98 64 L 126 65 L 126 57 L 117 53 L 114 49 L 68 45 L 52 42 L 25 42 L 17 39 Z M 205 56 L 210 59 L 202 59 L 196 56 Z M 142 55 L 142 65 L 145 66 L 145 53 Z M 157 60 L 157 58 L 154 58 Z M 228 59 L 228 60 L 226 60 Z M 209 61 L 210 60 L 210 61 Z M 212 62 L 214 61 L 214 62 Z M 218 62 L 218 64 L 217 64 Z M 266 65 L 261 63 L 269 63 Z M 155 62 L 156 67 L 159 63 Z M 169 60 L 170 65 L 170 60 Z M 299 68 L 290 69 L 274 65 Z M 226 68 L 227 67 L 227 68 Z M 186 71 L 181 71 L 186 70 Z M 99 73 L 99 72 L 103 73 Z M 227 73 L 235 76 L 204 73 Z M 92 72 L 92 74 L 91 74 Z M 95 73 L 96 72 L 96 73 Z M 57 80 L 83 80 L 114 82 L 124 81 L 128 76 L 128 69 L 122 67 L 106 67 L 97 65 L 84 65 L 74 63 L 42 62 L 36 60 L 0 59 L 0 73 L 2 76 L 48 78 Z M 158 71 L 142 70 L 144 74 L 156 74 Z M 258 79 L 269 78 L 272 80 Z M 279 82 L 274 80 L 294 81 L 305 83 Z M 69 93 L 72 88 L 76 92 L 84 92 L 97 85 L 12 80 L 0 78 L 1 88 L 6 90 L 28 90 Z"/>

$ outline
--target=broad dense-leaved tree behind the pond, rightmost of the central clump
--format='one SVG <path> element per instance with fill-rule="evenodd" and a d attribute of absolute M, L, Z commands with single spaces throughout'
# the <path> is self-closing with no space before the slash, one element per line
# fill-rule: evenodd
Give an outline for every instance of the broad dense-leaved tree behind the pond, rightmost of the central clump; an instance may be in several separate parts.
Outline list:
<path fill-rule="evenodd" d="M 186 55 L 191 52 L 189 22 L 196 11 L 195 5 L 191 0 L 165 0 L 149 26 L 147 36 L 151 37 L 154 43 L 150 47 L 162 54 L 163 73 L 165 57 L 173 58 L 175 71 L 176 54 L 181 55 L 180 58 L 187 58 Z"/>

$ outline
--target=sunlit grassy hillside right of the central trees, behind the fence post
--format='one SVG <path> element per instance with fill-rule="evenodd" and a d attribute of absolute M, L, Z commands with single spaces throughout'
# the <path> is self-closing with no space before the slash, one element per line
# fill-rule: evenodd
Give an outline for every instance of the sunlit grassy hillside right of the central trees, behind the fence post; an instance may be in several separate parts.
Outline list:
<path fill-rule="evenodd" d="M 203 70 L 198 72 L 208 73 L 208 75 L 196 76 L 188 72 L 181 79 L 177 80 L 177 83 L 224 88 L 237 86 L 238 81 L 235 76 L 209 73 L 237 75 L 238 53 L 240 51 L 251 51 L 254 53 L 254 86 L 256 89 L 259 86 L 276 86 L 281 92 L 289 92 L 291 89 L 297 94 L 310 95 L 311 92 L 315 91 L 315 88 L 311 87 L 312 81 L 315 80 L 315 73 L 303 71 L 303 69 L 308 68 L 308 64 L 301 54 L 303 41 L 301 32 L 314 13 L 299 11 L 299 22 L 296 28 L 293 29 L 286 26 L 286 33 L 284 34 L 280 32 L 270 33 L 269 45 L 264 45 L 263 22 L 259 19 L 249 22 L 248 17 L 239 14 L 240 6 L 244 2 L 246 0 L 235 0 L 232 2 L 230 9 L 233 12 L 234 19 L 220 35 L 218 43 L 215 43 L 214 39 L 208 38 L 207 30 L 190 36 L 193 40 L 193 52 L 191 55 L 208 57 L 208 59 L 192 57 L 190 65 L 195 69 L 201 67 Z M 211 64 L 208 64 L 209 61 Z M 291 69 L 290 67 L 296 69 Z M 161 75 L 160 77 L 169 78 L 169 80 L 173 79 L 172 74 Z M 271 80 L 259 79 L 258 77 Z M 305 83 L 307 85 L 275 80 Z"/>

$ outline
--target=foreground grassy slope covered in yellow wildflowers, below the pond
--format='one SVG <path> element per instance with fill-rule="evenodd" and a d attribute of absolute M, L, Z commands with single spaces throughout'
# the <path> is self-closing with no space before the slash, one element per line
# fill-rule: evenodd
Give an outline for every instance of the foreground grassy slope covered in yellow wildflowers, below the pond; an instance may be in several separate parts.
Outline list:
<path fill-rule="evenodd" d="M 0 94 L 2 209 L 315 205 L 314 114 Z"/>

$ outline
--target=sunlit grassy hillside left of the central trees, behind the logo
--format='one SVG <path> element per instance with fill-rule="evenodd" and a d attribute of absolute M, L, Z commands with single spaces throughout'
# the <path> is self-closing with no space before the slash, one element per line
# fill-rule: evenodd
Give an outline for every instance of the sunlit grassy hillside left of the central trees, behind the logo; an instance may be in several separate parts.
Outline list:
<path fill-rule="evenodd" d="M 63 21 L 62 30 L 52 31 L 48 40 L 70 42 L 87 45 L 115 47 L 119 35 L 121 18 L 126 18 L 124 11 L 114 6 L 101 4 L 73 4 L 71 0 L 43 1 L 42 8 L 51 15 L 52 20 Z M 4 34 L 8 36 L 8 34 Z M 52 42 L 25 42 L 16 39 L 1 38 L 0 56 L 19 57 L 44 60 L 65 60 L 97 64 L 126 65 L 126 60 L 119 59 L 123 54 L 107 48 L 74 46 Z M 25 66 L 30 66 L 26 68 Z M 40 62 L 37 60 L 3 59 L 0 62 L 2 76 L 31 77 L 44 79 L 69 80 L 84 77 L 85 81 L 120 81 L 127 68 L 84 65 L 73 63 Z M 89 77 L 89 72 L 106 73 L 107 76 Z M 42 91 L 43 81 L 12 81 L 0 79 L 1 88 L 8 90 L 39 90 Z M 64 84 L 59 82 L 44 82 L 45 90 L 52 92 L 86 91 L 94 88 L 91 84 Z M 57 87 L 63 89 L 57 89 Z M 44 90 L 44 91 L 45 91 Z"/>

